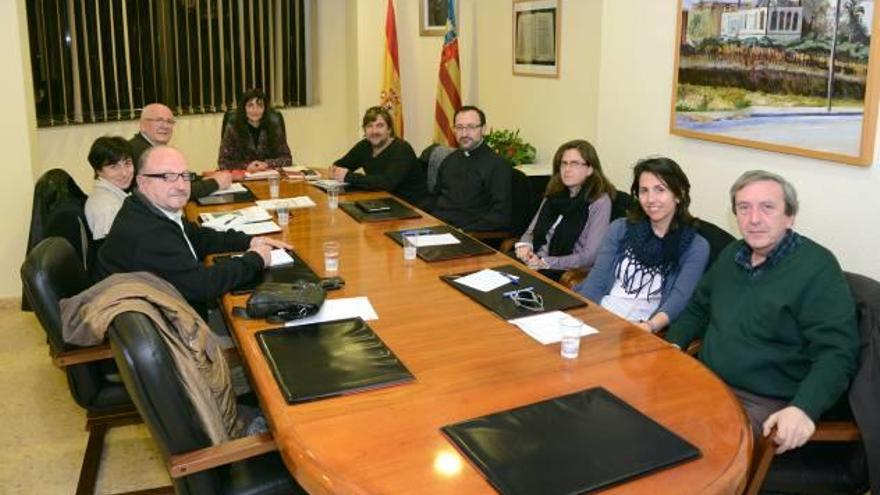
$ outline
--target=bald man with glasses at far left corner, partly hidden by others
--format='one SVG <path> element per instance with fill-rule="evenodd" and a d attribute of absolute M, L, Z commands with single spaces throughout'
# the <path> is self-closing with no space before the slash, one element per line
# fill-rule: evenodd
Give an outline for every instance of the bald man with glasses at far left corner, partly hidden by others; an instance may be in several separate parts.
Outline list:
<path fill-rule="evenodd" d="M 138 123 L 140 130 L 128 140 L 131 145 L 131 159 L 135 167 L 140 165 L 141 155 L 153 146 L 165 146 L 174 134 L 174 114 L 161 103 L 150 103 L 141 111 Z M 210 178 L 197 180 L 191 184 L 190 198 L 201 198 L 218 189 L 227 189 L 232 184 L 232 174 L 226 171 L 214 172 Z"/>

